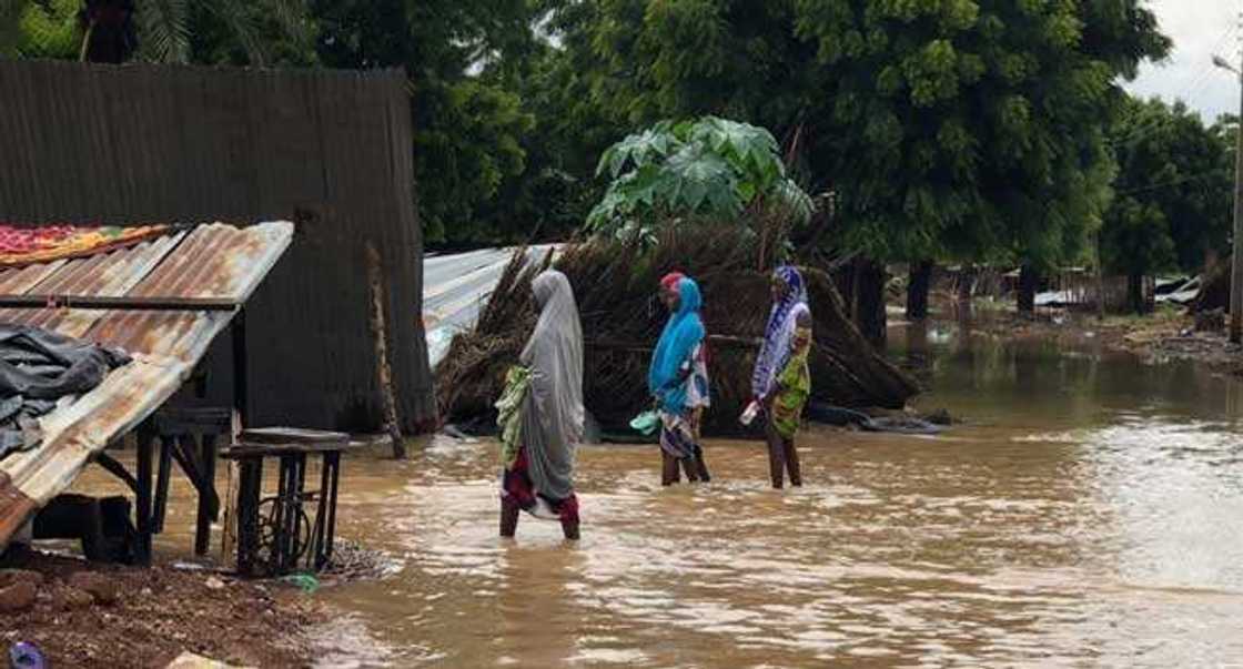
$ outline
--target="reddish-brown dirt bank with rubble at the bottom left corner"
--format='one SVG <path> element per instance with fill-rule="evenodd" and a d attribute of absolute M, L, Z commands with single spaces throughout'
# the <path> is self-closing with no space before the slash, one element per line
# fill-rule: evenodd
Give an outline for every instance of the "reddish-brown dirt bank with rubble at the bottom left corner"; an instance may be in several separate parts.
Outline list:
<path fill-rule="evenodd" d="M 22 606 L 31 589 L 34 602 Z M 0 561 L 0 645 L 7 653 L 34 643 L 57 668 L 164 668 L 185 650 L 237 665 L 306 667 L 302 630 L 326 616 L 298 597 L 210 572 L 26 552 Z"/>

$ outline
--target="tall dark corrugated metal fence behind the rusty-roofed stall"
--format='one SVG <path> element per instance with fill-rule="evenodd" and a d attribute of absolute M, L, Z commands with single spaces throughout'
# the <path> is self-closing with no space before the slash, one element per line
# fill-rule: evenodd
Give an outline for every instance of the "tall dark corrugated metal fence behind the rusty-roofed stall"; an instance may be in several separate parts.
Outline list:
<path fill-rule="evenodd" d="M 365 246 L 388 280 L 403 428 L 435 417 L 400 71 L 0 61 L 0 221 L 297 225 L 247 307 L 252 425 L 375 430 Z M 231 400 L 216 342 L 209 397 Z"/>

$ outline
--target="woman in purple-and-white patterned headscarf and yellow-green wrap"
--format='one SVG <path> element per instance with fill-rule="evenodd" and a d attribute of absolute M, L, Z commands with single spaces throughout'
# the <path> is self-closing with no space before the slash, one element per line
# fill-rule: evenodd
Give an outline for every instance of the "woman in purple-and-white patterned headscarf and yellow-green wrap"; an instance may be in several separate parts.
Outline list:
<path fill-rule="evenodd" d="M 807 357 L 812 349 L 812 310 L 807 305 L 803 275 L 792 266 L 777 267 L 772 277 L 773 307 L 764 327 L 764 341 L 751 377 L 756 400 L 764 409 L 768 465 L 773 487 L 803 485 L 794 435 L 803 407 L 812 393 Z"/>

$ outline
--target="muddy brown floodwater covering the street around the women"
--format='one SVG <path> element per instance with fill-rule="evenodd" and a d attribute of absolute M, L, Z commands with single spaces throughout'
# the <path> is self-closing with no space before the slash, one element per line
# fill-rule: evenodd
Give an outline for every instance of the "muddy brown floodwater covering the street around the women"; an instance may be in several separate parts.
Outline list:
<path fill-rule="evenodd" d="M 341 612 L 319 665 L 1243 664 L 1243 385 L 895 338 L 931 384 L 919 405 L 968 424 L 810 429 L 787 491 L 758 443 L 709 443 L 713 482 L 672 489 L 655 446 L 584 448 L 577 545 L 530 517 L 497 538 L 491 443 L 349 459 L 339 533 L 399 566 L 314 594 Z M 186 553 L 191 524 L 178 486 L 162 552 Z"/>

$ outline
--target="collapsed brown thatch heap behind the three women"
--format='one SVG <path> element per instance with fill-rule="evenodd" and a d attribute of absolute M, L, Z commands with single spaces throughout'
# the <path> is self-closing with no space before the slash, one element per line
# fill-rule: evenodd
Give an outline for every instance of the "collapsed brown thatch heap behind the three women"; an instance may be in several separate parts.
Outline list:
<path fill-rule="evenodd" d="M 751 394 L 751 369 L 771 305 L 768 271 L 738 234 L 663 234 L 654 247 L 619 241 L 571 245 L 556 262 L 574 287 L 587 343 L 584 398 L 605 427 L 624 425 L 651 403 L 648 363 L 666 313 L 656 301 L 660 277 L 682 271 L 700 282 L 711 351 L 712 409 L 705 430 L 738 431 Z M 523 269 L 515 255 L 472 332 L 459 334 L 436 368 L 438 400 L 446 419 L 491 415 L 505 369 L 534 325 L 531 280 L 543 262 Z M 828 274 L 805 269 L 815 348 L 813 395 L 845 407 L 901 408 L 915 382 L 890 364 L 849 321 Z"/>

